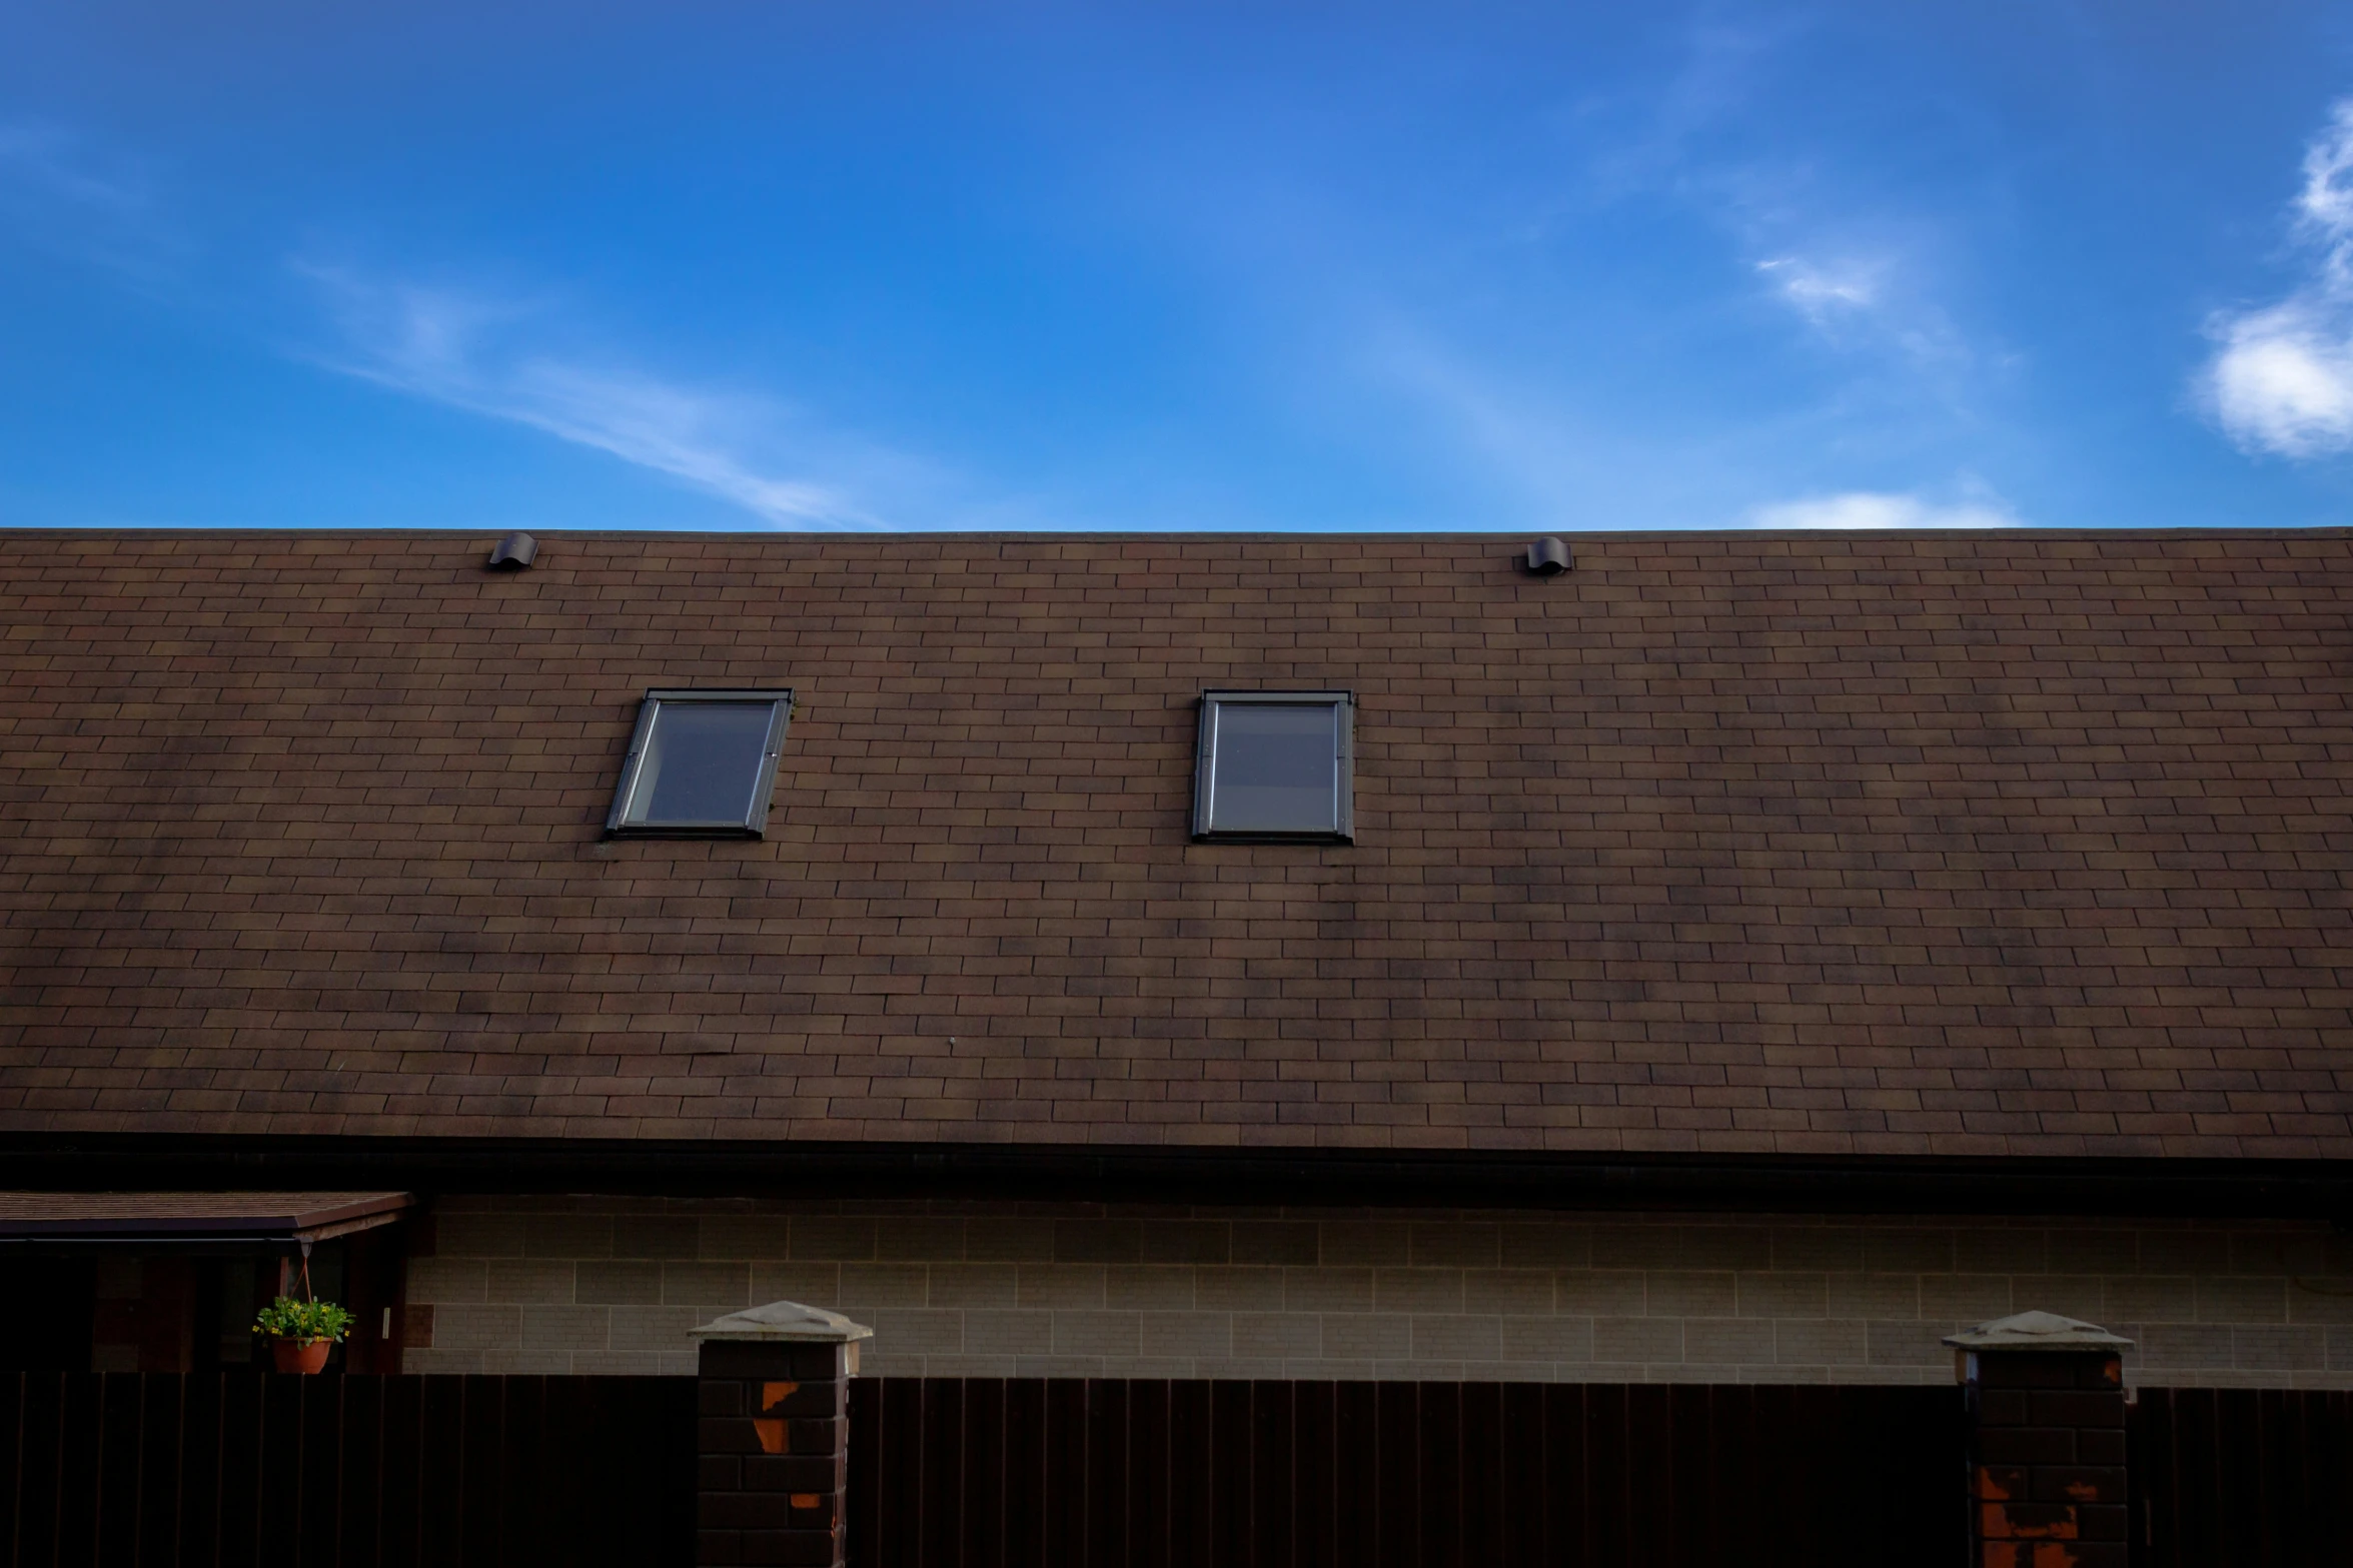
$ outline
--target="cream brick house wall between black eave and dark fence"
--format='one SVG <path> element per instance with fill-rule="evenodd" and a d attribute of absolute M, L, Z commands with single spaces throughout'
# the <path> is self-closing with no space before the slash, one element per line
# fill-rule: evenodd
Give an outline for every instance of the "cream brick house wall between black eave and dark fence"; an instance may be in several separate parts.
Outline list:
<path fill-rule="evenodd" d="M 767 1300 L 868 1373 L 1946 1382 L 2042 1307 L 2151 1385 L 2353 1387 L 2353 1239 L 2299 1222 L 442 1199 L 421 1373 L 687 1373 Z"/>

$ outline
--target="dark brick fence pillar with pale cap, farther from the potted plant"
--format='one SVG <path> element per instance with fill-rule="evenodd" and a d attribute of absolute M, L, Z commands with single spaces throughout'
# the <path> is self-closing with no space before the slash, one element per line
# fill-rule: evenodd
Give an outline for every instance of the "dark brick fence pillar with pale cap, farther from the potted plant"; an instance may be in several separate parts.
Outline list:
<path fill-rule="evenodd" d="M 2132 1340 L 2052 1312 L 1958 1333 L 1972 1568 L 2125 1568 Z"/>

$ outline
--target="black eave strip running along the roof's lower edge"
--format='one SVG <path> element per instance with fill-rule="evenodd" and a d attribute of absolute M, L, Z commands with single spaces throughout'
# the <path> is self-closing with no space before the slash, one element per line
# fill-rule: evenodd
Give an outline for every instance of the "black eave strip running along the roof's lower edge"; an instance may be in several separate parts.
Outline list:
<path fill-rule="evenodd" d="M 0 1133 L 0 1180 L 19 1187 L 132 1171 L 186 1190 L 266 1175 L 306 1187 L 393 1178 L 428 1194 L 2318 1218 L 2353 1229 L 2353 1159 Z"/>

